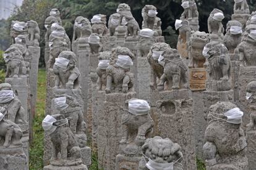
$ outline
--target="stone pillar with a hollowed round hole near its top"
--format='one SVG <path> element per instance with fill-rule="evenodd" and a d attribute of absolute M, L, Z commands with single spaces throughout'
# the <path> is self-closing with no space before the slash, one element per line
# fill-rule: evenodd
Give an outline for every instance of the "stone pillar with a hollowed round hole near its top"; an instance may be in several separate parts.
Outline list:
<path fill-rule="evenodd" d="M 184 169 L 197 169 L 192 104 L 192 94 L 188 89 L 161 91 L 157 101 L 160 136 L 181 145 Z"/>

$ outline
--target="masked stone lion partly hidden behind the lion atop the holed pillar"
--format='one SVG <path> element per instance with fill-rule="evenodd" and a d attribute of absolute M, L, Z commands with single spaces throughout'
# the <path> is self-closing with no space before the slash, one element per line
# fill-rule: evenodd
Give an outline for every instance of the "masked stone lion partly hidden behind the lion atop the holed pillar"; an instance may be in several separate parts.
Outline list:
<path fill-rule="evenodd" d="M 155 43 L 151 46 L 150 52 L 148 53 L 148 62 L 151 66 L 151 70 L 153 70 L 153 82 L 151 82 L 151 87 L 155 89 L 157 88 L 157 79 L 160 80 L 164 70 L 163 66 L 158 63 L 158 59 L 160 55 L 169 48 L 171 47 L 166 43 Z"/>

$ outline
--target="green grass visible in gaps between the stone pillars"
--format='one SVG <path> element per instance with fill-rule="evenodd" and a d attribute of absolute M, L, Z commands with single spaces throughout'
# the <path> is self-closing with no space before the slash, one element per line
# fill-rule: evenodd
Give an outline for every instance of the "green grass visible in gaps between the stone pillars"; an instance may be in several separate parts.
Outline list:
<path fill-rule="evenodd" d="M 45 98 L 46 98 L 46 71 L 40 69 L 38 72 L 36 117 L 33 120 L 34 140 L 30 145 L 30 170 L 43 169 L 43 128 L 41 122 L 45 117 Z M 198 170 L 205 170 L 205 164 L 197 159 Z M 96 153 L 92 153 L 92 165 L 89 170 L 98 169 Z"/>

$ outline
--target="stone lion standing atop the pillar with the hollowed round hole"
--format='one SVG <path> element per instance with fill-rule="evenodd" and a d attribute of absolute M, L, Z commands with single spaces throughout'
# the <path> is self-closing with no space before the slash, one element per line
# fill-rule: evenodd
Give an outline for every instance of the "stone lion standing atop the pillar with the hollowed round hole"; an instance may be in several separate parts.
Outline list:
<path fill-rule="evenodd" d="M 161 56 L 158 62 L 164 67 L 164 70 L 157 85 L 158 90 L 188 88 L 188 68 L 182 61 L 177 49 L 166 49 Z"/>

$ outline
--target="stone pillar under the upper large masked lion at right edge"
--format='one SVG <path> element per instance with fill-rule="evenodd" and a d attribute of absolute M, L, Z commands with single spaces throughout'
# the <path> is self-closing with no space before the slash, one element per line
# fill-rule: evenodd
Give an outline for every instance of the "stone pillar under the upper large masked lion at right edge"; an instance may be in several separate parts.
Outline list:
<path fill-rule="evenodd" d="M 239 108 L 244 112 L 243 124 L 246 125 L 250 120 L 249 102 L 246 100 L 246 87 L 248 83 L 256 80 L 256 67 L 239 68 Z"/>

